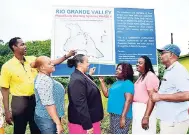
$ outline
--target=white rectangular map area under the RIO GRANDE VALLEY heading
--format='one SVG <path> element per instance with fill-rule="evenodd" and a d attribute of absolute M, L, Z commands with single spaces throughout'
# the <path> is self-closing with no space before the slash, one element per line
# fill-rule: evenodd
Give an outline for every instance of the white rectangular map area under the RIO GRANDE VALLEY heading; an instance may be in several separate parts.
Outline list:
<path fill-rule="evenodd" d="M 90 62 L 113 64 L 115 47 L 112 18 L 79 18 L 55 18 L 52 58 L 76 50 L 77 54 L 87 55 Z"/>

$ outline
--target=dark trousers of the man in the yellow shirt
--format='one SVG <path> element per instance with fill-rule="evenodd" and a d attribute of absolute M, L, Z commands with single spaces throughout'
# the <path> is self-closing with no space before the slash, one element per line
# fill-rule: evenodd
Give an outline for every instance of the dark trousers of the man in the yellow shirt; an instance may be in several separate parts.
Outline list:
<path fill-rule="evenodd" d="M 34 121 L 35 96 L 12 96 L 12 117 L 14 122 L 14 134 L 25 134 L 29 122 L 31 134 L 40 134 L 40 130 Z"/>

